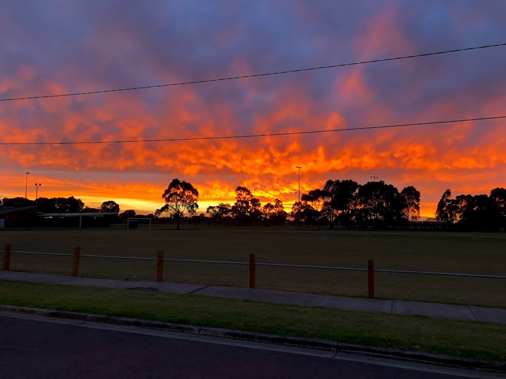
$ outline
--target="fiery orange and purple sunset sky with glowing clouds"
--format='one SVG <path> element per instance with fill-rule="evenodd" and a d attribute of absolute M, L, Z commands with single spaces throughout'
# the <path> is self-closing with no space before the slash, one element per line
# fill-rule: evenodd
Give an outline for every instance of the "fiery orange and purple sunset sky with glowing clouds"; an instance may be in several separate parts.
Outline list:
<path fill-rule="evenodd" d="M 0 100 L 217 79 L 506 42 L 503 0 L 19 1 L 0 13 Z M 506 115 L 506 46 L 299 73 L 0 102 L 0 142 L 195 138 Z M 199 213 L 246 186 L 285 209 L 328 179 L 421 193 L 506 187 L 506 120 L 240 139 L 0 145 L 0 198 Z"/>

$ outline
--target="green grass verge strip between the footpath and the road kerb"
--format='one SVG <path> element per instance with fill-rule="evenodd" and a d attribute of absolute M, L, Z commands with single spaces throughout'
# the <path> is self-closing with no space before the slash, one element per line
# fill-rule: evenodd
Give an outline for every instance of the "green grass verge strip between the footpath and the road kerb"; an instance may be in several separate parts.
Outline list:
<path fill-rule="evenodd" d="M 506 325 L 162 292 L 0 280 L 0 304 L 506 361 Z"/>

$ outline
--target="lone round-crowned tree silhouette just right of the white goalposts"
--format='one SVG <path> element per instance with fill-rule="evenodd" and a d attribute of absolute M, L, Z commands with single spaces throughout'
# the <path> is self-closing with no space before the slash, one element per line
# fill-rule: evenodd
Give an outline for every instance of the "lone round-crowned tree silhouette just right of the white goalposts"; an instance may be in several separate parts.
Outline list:
<path fill-rule="evenodd" d="M 179 230 L 179 223 L 185 214 L 193 216 L 198 209 L 198 191 L 189 182 L 181 181 L 178 178 L 172 180 L 162 195 L 165 205 L 156 213 L 168 213 L 176 219 L 176 229 Z"/>

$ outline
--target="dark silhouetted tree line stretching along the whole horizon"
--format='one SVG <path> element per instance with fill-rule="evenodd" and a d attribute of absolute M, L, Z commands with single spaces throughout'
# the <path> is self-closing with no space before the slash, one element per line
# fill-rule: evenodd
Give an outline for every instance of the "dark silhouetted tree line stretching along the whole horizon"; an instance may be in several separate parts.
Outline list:
<path fill-rule="evenodd" d="M 299 225 L 328 225 L 373 228 L 407 228 L 420 216 L 420 193 L 413 186 L 398 191 L 392 184 L 383 180 L 359 184 L 354 180 L 327 180 L 322 188 L 304 193 L 301 201 L 295 202 L 291 212 L 286 212 L 283 203 L 275 199 L 273 203 L 261 204 L 243 186 L 235 189 L 234 204 L 220 203 L 206 209 L 208 217 L 215 225 L 283 225 L 286 221 Z M 151 217 L 154 222 L 176 222 L 177 229 L 183 220 L 200 223 L 204 213 L 197 216 L 197 189 L 189 182 L 173 179 L 162 194 L 165 201 Z M 86 207 L 73 196 L 64 198 L 38 198 L 35 201 L 25 198 L 4 198 L 0 205 L 6 207 L 37 206 L 41 213 L 119 213 L 119 205 L 113 200 L 102 203 L 100 208 Z M 166 214 L 167 217 L 163 217 Z M 129 209 L 119 214 L 120 220 L 136 217 L 135 210 Z M 447 189 L 437 205 L 435 218 L 445 229 L 496 231 L 506 227 L 506 189 L 494 188 L 487 195 L 459 195 L 452 199 Z M 414 224 L 416 225 L 416 224 Z M 438 225 L 438 226 L 439 226 Z"/>

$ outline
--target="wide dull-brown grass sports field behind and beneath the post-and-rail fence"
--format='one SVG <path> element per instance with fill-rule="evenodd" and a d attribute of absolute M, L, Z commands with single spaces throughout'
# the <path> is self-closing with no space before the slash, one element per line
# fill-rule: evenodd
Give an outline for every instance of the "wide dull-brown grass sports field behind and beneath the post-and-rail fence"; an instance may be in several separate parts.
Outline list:
<path fill-rule="evenodd" d="M 427 231 L 294 230 L 183 225 L 151 231 L 125 228 L 0 230 L 0 246 L 12 250 L 243 261 L 415 271 L 504 275 L 506 234 Z M 154 280 L 155 262 L 86 258 L 79 275 Z M 13 254 L 11 269 L 70 274 L 70 257 Z M 165 262 L 164 280 L 247 287 L 247 266 Z M 367 295 L 367 273 L 258 267 L 259 288 L 345 296 Z M 378 298 L 506 307 L 506 280 L 375 273 Z"/>

